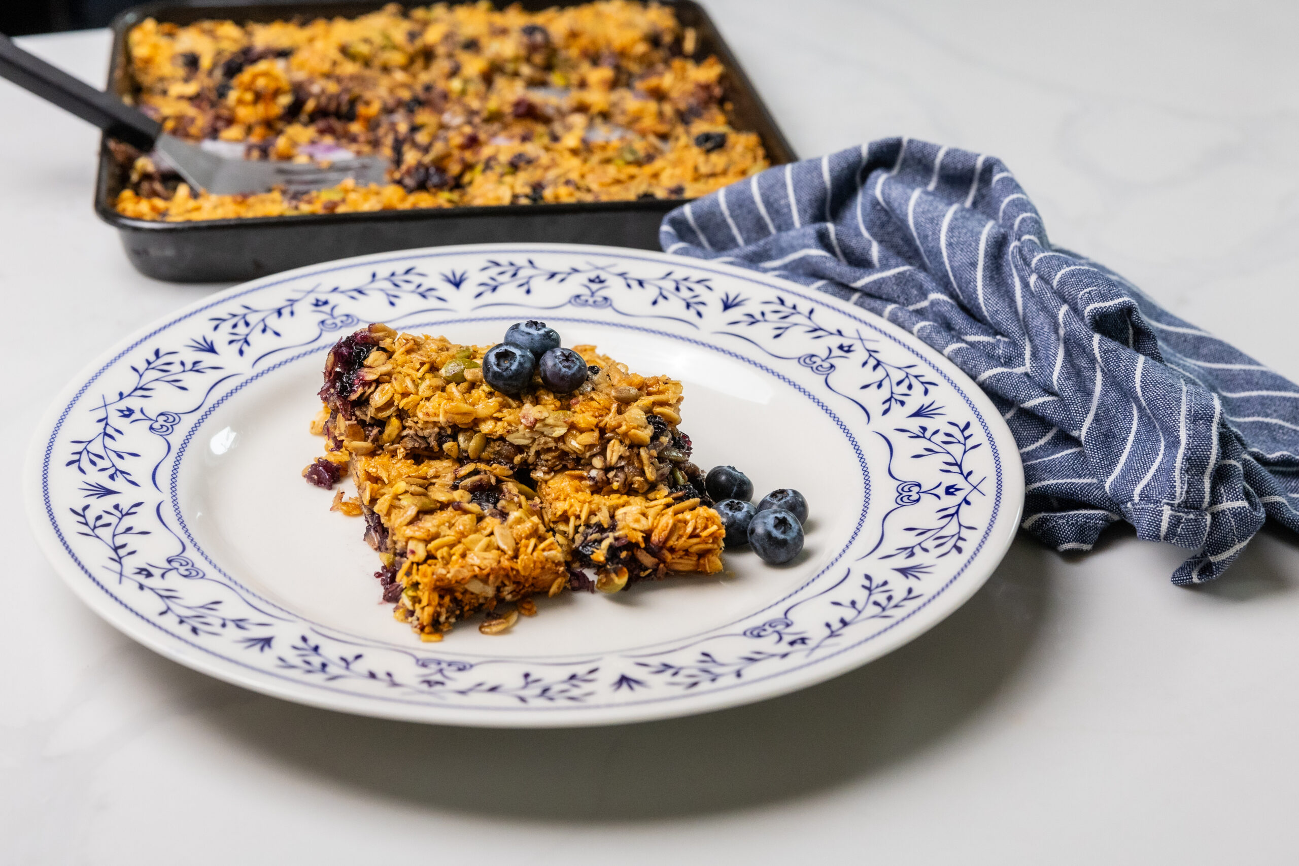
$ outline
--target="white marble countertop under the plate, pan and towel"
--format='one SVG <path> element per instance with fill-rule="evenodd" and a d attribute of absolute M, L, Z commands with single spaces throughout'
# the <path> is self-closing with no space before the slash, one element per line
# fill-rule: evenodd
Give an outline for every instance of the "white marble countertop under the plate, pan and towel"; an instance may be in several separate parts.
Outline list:
<path fill-rule="evenodd" d="M 801 155 L 896 134 L 995 153 L 1056 243 L 1299 380 L 1295 4 L 707 4 Z M 25 44 L 103 80 L 104 32 Z M 21 457 L 84 364 L 214 287 L 131 270 L 91 212 L 90 127 L 3 83 L 0 117 L 22 406 L 0 441 Z M 1299 849 L 1299 539 L 1281 531 L 1194 591 L 1168 580 L 1183 552 L 1130 532 L 1083 558 L 1021 538 L 947 622 L 801 693 L 475 731 L 295 706 L 155 656 L 64 588 L 12 484 L 4 863 L 1259 866 Z"/>

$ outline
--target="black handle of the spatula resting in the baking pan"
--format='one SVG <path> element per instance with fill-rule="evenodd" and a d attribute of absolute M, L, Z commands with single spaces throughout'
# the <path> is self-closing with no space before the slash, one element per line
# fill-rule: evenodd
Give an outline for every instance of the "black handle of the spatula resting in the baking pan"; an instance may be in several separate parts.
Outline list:
<path fill-rule="evenodd" d="M 116 96 L 97 91 L 79 78 L 73 78 L 57 66 L 51 66 L 35 55 L 29 55 L 0 34 L 0 78 L 8 78 L 18 87 L 30 90 L 40 99 L 90 121 L 114 139 L 132 144 L 142 151 L 153 148 L 162 134 L 162 126 Z"/>

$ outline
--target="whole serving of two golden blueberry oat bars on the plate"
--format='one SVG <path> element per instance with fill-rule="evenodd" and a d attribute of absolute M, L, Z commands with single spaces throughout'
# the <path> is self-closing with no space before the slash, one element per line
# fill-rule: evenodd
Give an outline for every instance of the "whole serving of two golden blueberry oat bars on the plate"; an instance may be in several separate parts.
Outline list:
<path fill-rule="evenodd" d="M 573 392 L 534 378 L 508 395 L 483 380 L 487 349 L 372 325 L 326 360 L 330 453 L 308 480 L 349 467 L 399 618 L 438 639 L 478 610 L 587 588 L 587 570 L 607 592 L 721 570 L 725 530 L 677 427 L 679 382 L 579 345 Z"/>

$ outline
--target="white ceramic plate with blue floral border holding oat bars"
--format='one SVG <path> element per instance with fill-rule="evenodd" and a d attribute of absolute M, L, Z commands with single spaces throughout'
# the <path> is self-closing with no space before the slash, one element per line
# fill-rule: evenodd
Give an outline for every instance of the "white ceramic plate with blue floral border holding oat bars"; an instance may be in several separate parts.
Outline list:
<path fill-rule="evenodd" d="M 494 343 L 523 318 L 683 380 L 695 462 L 807 496 L 800 558 L 564 593 L 504 635 L 395 622 L 360 518 L 300 476 L 325 353 L 372 321 Z M 733 706 L 887 653 L 989 576 L 1024 480 L 983 393 L 859 308 L 657 253 L 482 245 L 304 267 L 136 334 L 56 401 L 27 499 L 73 589 L 182 665 L 349 713 L 546 727 Z"/>

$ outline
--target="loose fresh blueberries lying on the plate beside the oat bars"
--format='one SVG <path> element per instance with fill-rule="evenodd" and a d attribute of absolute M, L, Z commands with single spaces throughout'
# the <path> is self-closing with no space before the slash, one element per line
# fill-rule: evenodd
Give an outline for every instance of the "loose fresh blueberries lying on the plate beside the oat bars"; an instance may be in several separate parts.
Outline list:
<path fill-rule="evenodd" d="M 753 506 L 753 482 L 734 466 L 714 466 L 704 478 L 708 495 L 726 527 L 726 547 L 748 544 L 769 565 L 783 565 L 803 549 L 808 501 L 796 489 L 781 488 Z"/>

